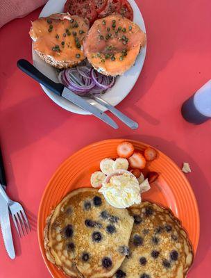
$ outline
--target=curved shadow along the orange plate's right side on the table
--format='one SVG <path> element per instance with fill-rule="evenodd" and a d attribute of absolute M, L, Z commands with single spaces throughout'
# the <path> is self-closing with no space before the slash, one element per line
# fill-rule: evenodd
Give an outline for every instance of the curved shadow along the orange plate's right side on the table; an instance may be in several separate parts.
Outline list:
<path fill-rule="evenodd" d="M 192 189 L 196 196 L 196 200 L 199 206 L 199 215 L 200 215 L 200 239 L 199 247 L 196 253 L 196 258 L 192 269 L 197 268 L 197 266 L 203 261 L 207 252 L 210 249 L 211 238 L 211 222 L 210 222 L 210 211 L 211 211 L 211 189 L 208 185 L 208 181 L 200 170 L 199 165 L 194 161 L 194 159 L 189 156 L 183 149 L 180 149 L 174 141 L 167 141 L 162 138 L 153 137 L 153 136 L 144 136 L 144 135 L 133 135 L 126 136 L 127 139 L 139 140 L 142 142 L 147 142 L 149 145 L 158 147 L 161 152 L 167 154 L 176 164 L 181 167 L 183 162 L 188 161 L 194 174 L 187 174 L 187 179 L 192 185 Z M 200 184 L 196 184 L 194 177 L 200 177 Z M 208 213 L 206 213 L 208 212 Z"/>

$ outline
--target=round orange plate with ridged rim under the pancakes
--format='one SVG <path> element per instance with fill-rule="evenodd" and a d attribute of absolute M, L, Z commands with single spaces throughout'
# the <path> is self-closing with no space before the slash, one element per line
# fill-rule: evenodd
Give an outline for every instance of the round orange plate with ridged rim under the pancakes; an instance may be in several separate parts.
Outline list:
<path fill-rule="evenodd" d="M 38 238 L 44 262 L 55 278 L 66 276 L 47 260 L 44 252 L 43 230 L 51 210 L 71 190 L 90 186 L 92 172 L 99 170 L 100 161 L 105 157 L 117 157 L 117 145 L 124 139 L 104 140 L 76 152 L 60 165 L 44 190 L 38 213 Z M 148 145 L 130 140 L 135 149 L 143 151 Z M 183 172 L 168 156 L 158 151 L 159 157 L 147 165 L 151 171 L 160 173 L 158 182 L 152 185 L 143 199 L 171 208 L 189 234 L 194 252 L 199 243 L 199 211 L 192 188 Z"/>

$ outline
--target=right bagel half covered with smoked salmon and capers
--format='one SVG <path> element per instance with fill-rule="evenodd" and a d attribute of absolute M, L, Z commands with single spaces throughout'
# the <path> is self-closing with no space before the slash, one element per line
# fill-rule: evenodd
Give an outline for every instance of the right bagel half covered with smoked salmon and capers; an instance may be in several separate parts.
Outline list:
<path fill-rule="evenodd" d="M 85 39 L 84 53 L 102 74 L 123 74 L 134 63 L 146 35 L 141 28 L 121 15 L 109 15 L 94 22 Z"/>

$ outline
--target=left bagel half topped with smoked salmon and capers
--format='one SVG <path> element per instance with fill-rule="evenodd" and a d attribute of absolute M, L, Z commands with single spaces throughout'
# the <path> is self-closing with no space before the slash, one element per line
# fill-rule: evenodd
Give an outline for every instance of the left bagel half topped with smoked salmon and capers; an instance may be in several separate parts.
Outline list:
<path fill-rule="evenodd" d="M 53 67 L 60 69 L 77 65 L 85 59 L 83 40 L 89 30 L 87 19 L 55 14 L 32 22 L 29 34 L 35 52 Z"/>

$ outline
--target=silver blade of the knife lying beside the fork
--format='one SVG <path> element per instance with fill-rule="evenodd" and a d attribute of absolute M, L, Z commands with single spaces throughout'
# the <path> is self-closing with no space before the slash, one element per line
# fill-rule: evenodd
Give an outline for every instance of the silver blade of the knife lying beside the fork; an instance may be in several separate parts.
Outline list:
<path fill-rule="evenodd" d="M 0 194 L 0 226 L 3 236 L 3 242 L 10 259 L 15 259 L 15 249 L 12 240 L 12 231 L 10 226 L 10 215 L 6 199 Z"/>

